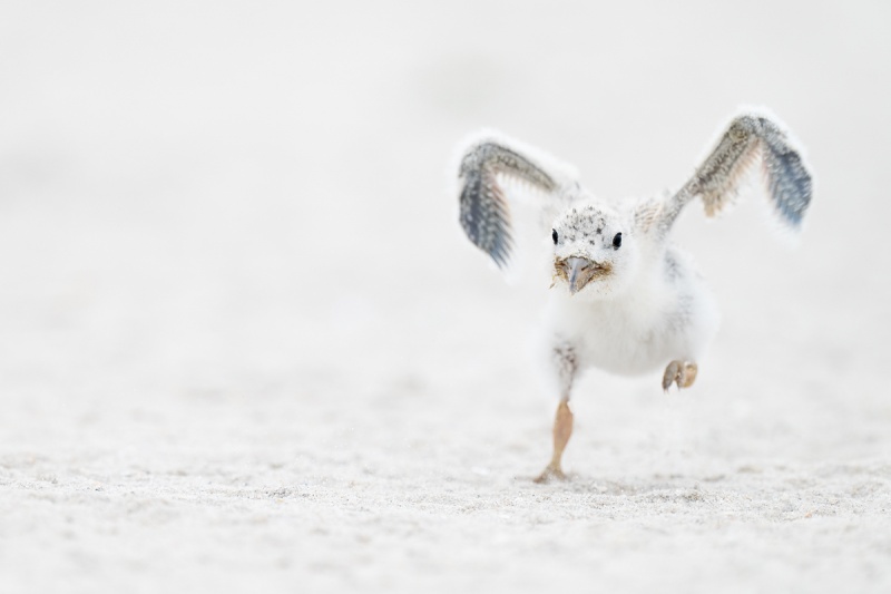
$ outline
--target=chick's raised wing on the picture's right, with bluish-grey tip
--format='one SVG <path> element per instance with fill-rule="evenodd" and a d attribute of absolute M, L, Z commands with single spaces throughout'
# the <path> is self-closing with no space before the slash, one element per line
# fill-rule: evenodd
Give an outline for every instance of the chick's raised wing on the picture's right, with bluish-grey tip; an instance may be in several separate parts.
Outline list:
<path fill-rule="evenodd" d="M 758 160 L 774 213 L 796 231 L 811 204 L 811 174 L 785 127 L 773 116 L 754 113 L 736 116 L 684 187 L 666 203 L 646 205 L 638 218 L 667 232 L 696 196 L 706 215 L 714 216 L 734 201 L 744 174 Z"/>

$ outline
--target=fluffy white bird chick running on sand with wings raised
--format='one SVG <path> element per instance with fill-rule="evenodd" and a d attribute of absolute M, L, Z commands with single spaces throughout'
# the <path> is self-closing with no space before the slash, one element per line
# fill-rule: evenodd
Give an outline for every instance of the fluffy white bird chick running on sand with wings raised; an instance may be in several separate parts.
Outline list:
<path fill-rule="evenodd" d="M 540 361 L 559 405 L 554 452 L 538 483 L 565 478 L 561 458 L 572 434 L 569 400 L 580 371 L 637 376 L 664 369 L 664 390 L 688 388 L 696 380 L 696 361 L 714 338 L 719 315 L 704 279 L 670 242 L 684 206 L 698 197 L 706 215 L 714 216 L 733 202 L 755 163 L 762 165 L 776 218 L 786 227 L 800 228 L 812 196 L 811 174 L 785 127 L 774 116 L 753 111 L 731 120 L 676 193 L 620 210 L 595 201 L 571 167 L 501 135 L 482 135 L 462 155 L 461 225 L 499 267 L 509 266 L 517 243 L 511 224 L 517 204 L 506 183 L 537 191 L 535 208 L 545 222 L 539 233 L 542 238 L 550 233 L 554 291 L 540 331 Z"/>

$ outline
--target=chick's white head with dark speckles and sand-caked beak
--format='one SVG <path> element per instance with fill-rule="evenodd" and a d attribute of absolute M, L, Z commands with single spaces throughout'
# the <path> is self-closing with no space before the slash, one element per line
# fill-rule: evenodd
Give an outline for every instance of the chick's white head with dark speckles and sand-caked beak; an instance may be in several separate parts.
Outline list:
<path fill-rule="evenodd" d="M 570 295 L 616 296 L 634 276 L 638 251 L 630 223 L 593 205 L 567 210 L 554 222 L 554 284 Z"/>

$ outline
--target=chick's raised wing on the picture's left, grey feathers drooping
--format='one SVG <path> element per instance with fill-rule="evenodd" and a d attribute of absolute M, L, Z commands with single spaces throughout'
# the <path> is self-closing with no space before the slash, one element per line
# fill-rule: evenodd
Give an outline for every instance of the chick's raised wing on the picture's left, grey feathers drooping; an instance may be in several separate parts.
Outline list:
<path fill-rule="evenodd" d="M 512 223 L 517 201 L 506 184 L 520 182 L 536 191 L 536 208 L 551 218 L 556 214 L 552 211 L 574 199 L 570 188 L 578 189 L 567 165 L 491 132 L 467 145 L 458 173 L 461 226 L 470 241 L 502 270 L 517 243 Z"/>

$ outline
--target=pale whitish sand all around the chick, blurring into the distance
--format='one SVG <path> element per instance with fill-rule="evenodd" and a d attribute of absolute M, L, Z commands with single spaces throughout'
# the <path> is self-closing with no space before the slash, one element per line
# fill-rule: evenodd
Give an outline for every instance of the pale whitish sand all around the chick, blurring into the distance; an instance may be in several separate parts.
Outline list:
<path fill-rule="evenodd" d="M 884 4 L 179 4 L 0 8 L 0 592 L 891 591 Z M 809 148 L 800 245 L 687 212 L 696 387 L 591 373 L 532 485 L 539 298 L 454 144 L 639 196 L 738 104 Z"/>

